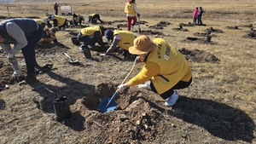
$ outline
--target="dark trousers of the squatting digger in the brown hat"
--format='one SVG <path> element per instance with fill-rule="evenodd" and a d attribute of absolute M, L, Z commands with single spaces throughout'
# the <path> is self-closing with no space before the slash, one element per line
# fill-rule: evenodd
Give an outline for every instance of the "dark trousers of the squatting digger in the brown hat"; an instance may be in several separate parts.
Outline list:
<path fill-rule="evenodd" d="M 189 87 L 189 85 L 192 82 L 192 78 L 190 78 L 189 82 L 183 82 L 183 81 L 179 81 L 176 85 L 174 85 L 171 89 L 167 90 L 166 92 L 164 92 L 163 94 L 161 94 L 160 96 L 166 100 L 168 97 L 170 97 L 174 91 L 173 89 L 184 89 Z M 154 88 L 154 84 L 150 83 L 150 87 L 152 89 L 152 91 L 154 91 L 154 93 L 157 93 L 156 89 Z"/>

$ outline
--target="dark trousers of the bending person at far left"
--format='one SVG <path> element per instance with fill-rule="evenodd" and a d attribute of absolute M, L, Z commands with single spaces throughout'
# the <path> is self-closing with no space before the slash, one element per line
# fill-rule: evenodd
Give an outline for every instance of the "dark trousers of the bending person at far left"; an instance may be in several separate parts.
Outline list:
<path fill-rule="evenodd" d="M 24 48 L 21 49 L 22 54 L 24 55 L 25 62 L 26 62 L 26 75 L 30 76 L 35 72 L 35 64 L 36 61 L 36 54 L 35 48 L 39 40 L 44 36 L 44 29 L 41 25 L 39 25 L 38 30 L 32 33 L 31 37 L 28 37 L 27 44 Z"/>

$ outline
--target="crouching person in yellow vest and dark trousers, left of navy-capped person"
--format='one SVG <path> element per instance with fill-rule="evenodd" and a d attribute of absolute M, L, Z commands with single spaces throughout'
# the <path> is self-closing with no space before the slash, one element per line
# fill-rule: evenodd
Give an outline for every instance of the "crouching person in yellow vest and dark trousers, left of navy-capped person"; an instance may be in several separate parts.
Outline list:
<path fill-rule="evenodd" d="M 106 45 L 108 43 L 103 43 L 102 36 L 105 32 L 104 26 L 90 26 L 81 29 L 79 32 L 77 39 L 79 42 L 84 42 L 80 47 L 79 51 L 84 53 L 86 59 L 90 59 L 90 49 L 88 45 L 95 45 L 98 43 L 99 45 Z"/>

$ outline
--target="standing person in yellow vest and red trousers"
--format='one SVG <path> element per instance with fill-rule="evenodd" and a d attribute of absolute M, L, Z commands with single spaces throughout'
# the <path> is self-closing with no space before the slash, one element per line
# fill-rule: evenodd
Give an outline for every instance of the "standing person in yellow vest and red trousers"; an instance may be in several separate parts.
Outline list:
<path fill-rule="evenodd" d="M 140 17 L 135 0 L 129 0 L 128 3 L 125 3 L 125 15 L 127 30 L 131 31 L 131 28 L 133 28 L 137 22 L 137 16 Z"/>

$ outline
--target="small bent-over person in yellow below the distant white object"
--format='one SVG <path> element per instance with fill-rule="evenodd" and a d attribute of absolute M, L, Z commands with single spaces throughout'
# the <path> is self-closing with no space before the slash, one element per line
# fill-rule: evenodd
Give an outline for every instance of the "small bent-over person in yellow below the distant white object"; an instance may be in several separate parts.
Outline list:
<path fill-rule="evenodd" d="M 59 30 L 65 30 L 67 26 L 67 19 L 60 15 L 49 14 L 49 20 L 53 21 L 53 27 L 58 28 Z"/>

